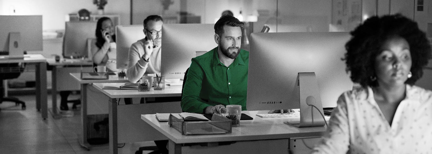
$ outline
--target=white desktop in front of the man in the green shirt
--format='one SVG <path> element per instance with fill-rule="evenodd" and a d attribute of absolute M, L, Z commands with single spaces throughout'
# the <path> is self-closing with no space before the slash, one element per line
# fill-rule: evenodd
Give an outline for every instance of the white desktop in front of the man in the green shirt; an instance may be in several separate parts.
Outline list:
<path fill-rule="evenodd" d="M 240 127 L 232 127 L 231 133 L 220 135 L 181 135 L 178 130 L 169 127 L 168 122 L 159 122 L 156 119 L 155 114 L 143 114 L 141 115 L 141 119 L 170 140 L 174 141 L 176 144 L 317 137 L 321 136 L 327 128 L 325 126 L 297 128 L 283 123 L 285 121 L 299 121 L 299 116 L 260 118 L 256 116 L 256 114 L 267 113 L 268 111 L 241 112 L 248 114 L 254 119 L 242 120 L 240 121 Z"/>

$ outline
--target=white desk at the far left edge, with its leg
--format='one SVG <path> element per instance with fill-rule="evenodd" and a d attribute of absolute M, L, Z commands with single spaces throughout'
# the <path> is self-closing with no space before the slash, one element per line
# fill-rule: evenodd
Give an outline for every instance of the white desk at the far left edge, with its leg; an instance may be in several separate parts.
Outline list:
<path fill-rule="evenodd" d="M 41 54 L 26 54 L 24 59 L 0 59 L 0 63 L 35 64 L 36 77 L 36 109 L 41 111 L 42 118 L 48 118 L 47 102 L 47 60 Z"/>

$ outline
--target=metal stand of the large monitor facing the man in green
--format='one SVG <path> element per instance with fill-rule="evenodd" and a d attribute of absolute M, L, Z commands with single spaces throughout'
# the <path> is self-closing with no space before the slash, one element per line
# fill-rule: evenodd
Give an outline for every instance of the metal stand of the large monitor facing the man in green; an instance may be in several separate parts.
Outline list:
<path fill-rule="evenodd" d="M 295 127 L 324 126 L 325 121 L 320 114 L 324 112 L 315 72 L 300 72 L 297 83 L 299 88 L 295 91 L 299 94 L 300 121 L 285 123 Z"/>

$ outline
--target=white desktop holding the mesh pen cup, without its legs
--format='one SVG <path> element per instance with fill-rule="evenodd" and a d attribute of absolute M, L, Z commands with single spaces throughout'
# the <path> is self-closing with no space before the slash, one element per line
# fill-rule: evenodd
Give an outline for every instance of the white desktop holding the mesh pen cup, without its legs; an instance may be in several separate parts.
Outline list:
<path fill-rule="evenodd" d="M 169 86 L 165 85 L 164 90 L 154 90 L 150 91 L 138 91 L 138 90 L 112 90 L 112 89 L 102 89 L 103 86 L 115 86 L 119 87 L 124 85 L 124 83 L 95 83 L 93 86 L 102 91 L 105 95 L 110 98 L 133 98 L 133 97 L 176 97 L 181 96 L 181 86 Z"/>

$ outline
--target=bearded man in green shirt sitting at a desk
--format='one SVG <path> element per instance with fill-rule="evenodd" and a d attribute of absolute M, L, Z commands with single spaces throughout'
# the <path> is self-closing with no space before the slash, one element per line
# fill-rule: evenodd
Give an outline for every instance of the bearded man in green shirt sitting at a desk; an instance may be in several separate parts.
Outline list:
<path fill-rule="evenodd" d="M 224 15 L 214 28 L 218 46 L 192 58 L 181 99 L 184 112 L 219 113 L 230 104 L 246 110 L 249 51 L 240 49 L 243 22 Z"/>

